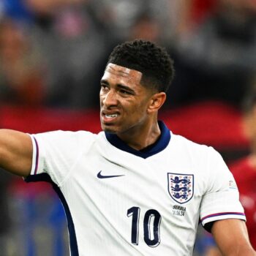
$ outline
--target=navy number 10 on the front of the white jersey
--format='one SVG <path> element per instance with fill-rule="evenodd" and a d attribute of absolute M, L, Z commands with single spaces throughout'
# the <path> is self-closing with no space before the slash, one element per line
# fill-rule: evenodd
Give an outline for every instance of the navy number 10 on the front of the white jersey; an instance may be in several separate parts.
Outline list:
<path fill-rule="evenodd" d="M 127 210 L 127 216 L 132 217 L 132 244 L 138 245 L 140 229 L 140 208 L 133 206 Z M 161 215 L 157 210 L 146 211 L 143 219 L 144 241 L 148 246 L 156 247 L 160 244 Z"/>

